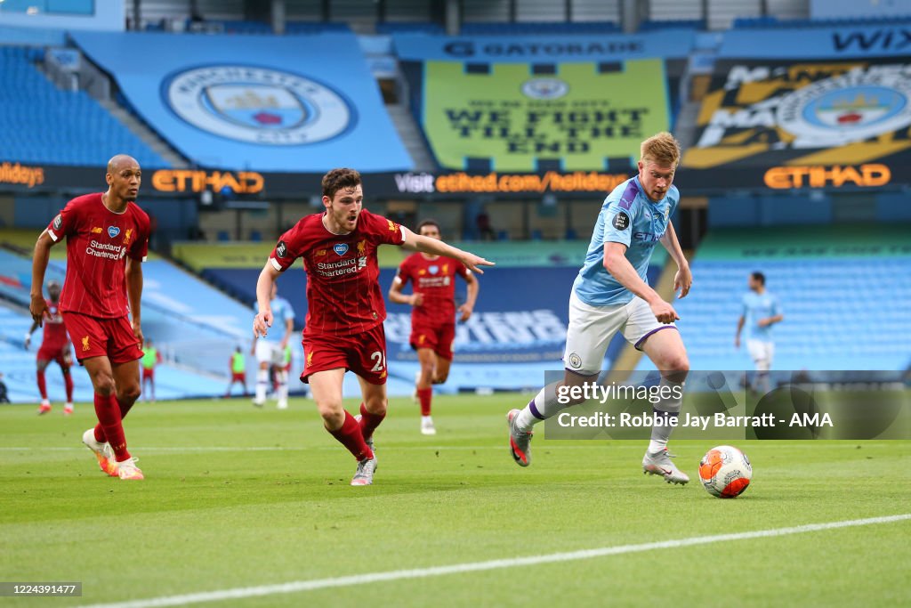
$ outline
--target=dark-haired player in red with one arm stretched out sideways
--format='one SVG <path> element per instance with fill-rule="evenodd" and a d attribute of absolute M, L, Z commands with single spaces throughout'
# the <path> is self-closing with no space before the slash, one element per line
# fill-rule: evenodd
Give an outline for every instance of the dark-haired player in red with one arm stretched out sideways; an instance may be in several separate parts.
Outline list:
<path fill-rule="evenodd" d="M 445 255 L 476 272 L 481 272 L 478 264 L 492 263 L 364 210 L 361 175 L 355 170 L 334 169 L 322 177 L 322 204 L 325 211 L 302 218 L 271 252 L 256 283 L 259 313 L 253 317 L 253 333 L 269 331 L 272 283 L 302 257 L 309 306 L 301 380 L 310 384 L 323 426 L 358 461 L 352 485 L 365 486 L 373 483 L 376 469 L 374 429 L 386 415 L 386 308 L 378 283 L 377 247 L 392 244 Z M 361 384 L 359 421 L 342 403 L 343 377 L 349 369 Z"/>

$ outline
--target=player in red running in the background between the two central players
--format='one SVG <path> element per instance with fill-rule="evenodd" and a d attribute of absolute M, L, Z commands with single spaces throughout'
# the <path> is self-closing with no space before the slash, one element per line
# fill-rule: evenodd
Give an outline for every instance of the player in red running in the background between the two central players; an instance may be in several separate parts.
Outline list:
<path fill-rule="evenodd" d="M 439 241 L 442 238 L 440 225 L 433 220 L 418 224 L 417 232 L 428 239 Z M 458 307 L 459 321 L 465 323 L 475 310 L 478 284 L 463 263 L 440 260 L 439 255 L 412 253 L 399 266 L 389 288 L 390 301 L 414 307 L 409 342 L 417 351 L 417 360 L 421 364 L 415 385 L 421 403 L 421 432 L 424 435 L 436 435 L 434 419 L 430 416 L 433 385 L 446 381 L 453 361 L 456 274 L 467 283 L 465 304 Z M 409 281 L 413 285 L 413 293 L 403 294 L 402 289 Z"/>

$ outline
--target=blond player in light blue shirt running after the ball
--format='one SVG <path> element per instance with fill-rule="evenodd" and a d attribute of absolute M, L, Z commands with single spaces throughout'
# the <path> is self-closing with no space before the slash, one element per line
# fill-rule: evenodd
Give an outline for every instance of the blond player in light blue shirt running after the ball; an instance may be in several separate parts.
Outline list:
<path fill-rule="evenodd" d="M 690 291 L 690 264 L 670 223 L 680 201 L 680 192 L 671 185 L 680 156 L 680 143 L 670 133 L 646 139 L 640 149 L 639 175 L 605 199 L 585 265 L 569 295 L 564 378 L 542 388 L 521 411 L 507 414 L 509 448 L 519 466 L 527 467 L 531 461 L 533 425 L 566 407 L 558 403 L 559 387 L 597 381 L 610 339 L 619 331 L 658 367 L 661 385 L 670 388 L 662 393 L 677 396 L 655 404 L 661 423 L 652 428 L 642 470 L 669 483 L 690 480 L 670 461 L 667 449 L 673 428 L 667 420 L 680 413 L 681 385 L 690 361 L 674 325 L 680 317 L 646 281 L 651 252 L 660 242 L 677 263 L 674 290 L 680 290 L 680 297 Z M 661 331 L 665 329 L 674 331 Z"/>

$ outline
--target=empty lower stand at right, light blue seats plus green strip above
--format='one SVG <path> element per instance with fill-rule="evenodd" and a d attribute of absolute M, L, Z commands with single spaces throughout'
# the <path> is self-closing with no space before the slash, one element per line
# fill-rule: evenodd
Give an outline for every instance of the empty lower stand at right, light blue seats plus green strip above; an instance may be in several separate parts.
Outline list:
<path fill-rule="evenodd" d="M 902 370 L 911 364 L 908 226 L 716 230 L 692 263 L 690 295 L 674 301 L 693 370 L 752 369 L 733 345 L 753 271 L 783 308 L 777 370 Z M 903 236 L 905 235 L 905 236 Z M 745 336 L 744 336 L 745 337 Z"/>

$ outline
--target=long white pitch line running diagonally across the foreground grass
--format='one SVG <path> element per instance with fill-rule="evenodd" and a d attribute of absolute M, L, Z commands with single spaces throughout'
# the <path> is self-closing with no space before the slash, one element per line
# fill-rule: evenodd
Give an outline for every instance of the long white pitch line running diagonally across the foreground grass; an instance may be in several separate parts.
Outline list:
<path fill-rule="evenodd" d="M 771 530 L 757 530 L 752 532 L 736 532 L 733 534 L 717 534 L 714 536 L 696 536 L 689 539 L 675 541 L 645 542 L 635 545 L 619 545 L 615 547 L 601 547 L 599 549 L 585 549 L 582 551 L 568 551 L 562 553 L 549 553 L 532 557 L 507 558 L 491 560 L 488 562 L 455 563 L 449 566 L 433 566 L 430 568 L 414 568 L 409 570 L 394 570 L 389 572 L 367 572 L 353 574 L 352 576 L 339 576 L 330 579 L 314 579 L 311 581 L 282 582 L 279 584 L 261 585 L 258 587 L 237 587 L 202 593 L 187 593 L 184 595 L 169 595 L 164 597 L 148 598 L 146 600 L 132 600 L 118 603 L 94 603 L 84 608 L 159 608 L 161 606 L 180 606 L 188 603 L 221 602 L 224 600 L 239 600 L 247 597 L 262 597 L 279 593 L 300 593 L 314 589 L 327 589 L 330 587 L 351 587 L 370 582 L 401 581 L 404 579 L 422 579 L 432 576 L 445 576 L 446 574 L 460 574 L 464 572 L 483 572 L 501 568 L 517 568 L 518 566 L 537 566 L 542 563 L 575 562 L 590 560 L 608 555 L 621 555 L 624 553 L 638 553 L 641 551 L 655 551 L 657 549 L 677 549 L 693 545 L 711 544 L 713 542 L 746 541 L 774 536 L 787 536 L 789 534 L 802 534 L 837 528 L 851 528 L 854 526 L 869 526 L 877 523 L 892 523 L 895 521 L 911 520 L 911 513 L 902 515 L 888 515 L 885 517 L 871 517 L 864 520 L 830 521 L 828 523 L 810 523 L 803 526 L 790 528 L 773 528 Z"/>

